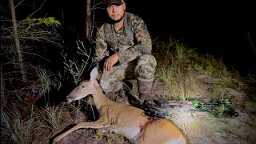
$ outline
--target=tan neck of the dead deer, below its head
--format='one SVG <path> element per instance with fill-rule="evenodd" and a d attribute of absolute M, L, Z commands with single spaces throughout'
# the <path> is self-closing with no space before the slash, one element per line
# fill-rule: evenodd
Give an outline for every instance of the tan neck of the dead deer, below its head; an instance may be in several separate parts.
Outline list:
<path fill-rule="evenodd" d="M 109 105 L 112 101 L 110 98 L 106 97 L 106 94 L 103 94 L 102 90 L 99 87 L 95 87 L 94 94 L 92 94 L 94 98 L 94 103 L 96 108 L 99 110 L 100 107 L 104 105 Z"/>

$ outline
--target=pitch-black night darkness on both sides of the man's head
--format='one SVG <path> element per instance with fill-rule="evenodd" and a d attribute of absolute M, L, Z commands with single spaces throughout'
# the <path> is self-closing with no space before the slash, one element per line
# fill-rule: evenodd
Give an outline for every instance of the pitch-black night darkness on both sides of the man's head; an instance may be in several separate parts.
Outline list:
<path fill-rule="evenodd" d="M 92 2 L 97 4 L 101 1 Z M 255 10 L 251 2 L 126 0 L 126 3 L 126 11 L 144 19 L 153 40 L 182 40 L 200 53 L 223 58 L 231 69 L 239 70 L 241 74 L 255 72 L 256 51 L 248 40 L 255 42 L 256 38 Z M 67 49 L 76 47 L 76 40 L 85 39 L 86 1 L 46 0 L 42 4 L 34 18 L 58 19 L 62 23 L 60 32 Z M 38 8 L 33 5 L 34 1 L 22 2 L 16 8 L 17 19 L 25 19 Z M 2 14 L 10 14 L 7 0 L 2 1 L 1 6 Z M 106 18 L 103 5 L 96 7 L 93 10 L 94 31 Z"/>

